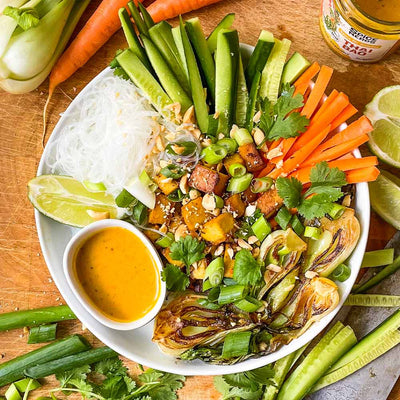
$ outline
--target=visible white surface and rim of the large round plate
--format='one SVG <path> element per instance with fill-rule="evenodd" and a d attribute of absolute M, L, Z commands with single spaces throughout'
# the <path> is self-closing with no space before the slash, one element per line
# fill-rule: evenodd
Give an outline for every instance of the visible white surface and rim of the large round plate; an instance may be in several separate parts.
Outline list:
<path fill-rule="evenodd" d="M 252 47 L 242 46 L 242 51 L 245 53 L 245 56 L 248 56 L 252 51 Z M 85 92 L 94 82 L 103 79 L 110 73 L 112 73 L 110 69 L 102 71 L 82 90 L 77 98 L 85 96 Z M 60 134 L 68 115 L 71 113 L 74 103 L 75 100 L 58 121 L 58 124 L 49 139 L 49 144 L 51 144 L 51 142 Z M 45 164 L 46 157 L 49 157 L 50 147 L 51 146 L 47 145 L 42 155 L 38 168 L 38 175 L 50 173 Z M 356 157 L 360 157 L 358 150 L 355 151 L 355 155 Z M 221 375 L 246 371 L 274 362 L 308 343 L 329 324 L 349 295 L 365 252 L 370 219 L 369 193 L 368 185 L 366 183 L 357 184 L 355 209 L 361 224 L 361 236 L 357 247 L 348 261 L 348 264 L 351 267 L 351 276 L 346 282 L 338 284 L 340 290 L 340 303 L 336 310 L 324 317 L 321 321 L 312 325 L 311 328 L 301 337 L 293 340 L 290 344 L 283 346 L 280 350 L 267 356 L 253 358 L 235 365 L 226 366 L 206 364 L 199 360 L 181 361 L 162 353 L 151 341 L 153 333 L 152 323 L 134 331 L 123 332 L 108 328 L 94 319 L 71 291 L 63 272 L 62 259 L 64 249 L 72 235 L 77 232 L 77 230 L 57 223 L 41 215 L 38 211 L 35 211 L 35 218 L 43 256 L 54 282 L 77 317 L 95 336 L 97 336 L 97 338 L 119 354 L 148 367 L 182 375 Z"/>

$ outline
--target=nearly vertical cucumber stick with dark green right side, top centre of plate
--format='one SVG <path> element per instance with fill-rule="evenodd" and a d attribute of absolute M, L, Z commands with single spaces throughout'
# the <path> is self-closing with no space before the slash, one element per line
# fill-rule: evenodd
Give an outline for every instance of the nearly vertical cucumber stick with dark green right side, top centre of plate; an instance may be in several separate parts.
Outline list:
<path fill-rule="evenodd" d="M 215 113 L 218 116 L 218 133 L 226 136 L 234 118 L 238 63 L 238 32 L 231 29 L 221 30 L 218 34 L 215 57 Z"/>

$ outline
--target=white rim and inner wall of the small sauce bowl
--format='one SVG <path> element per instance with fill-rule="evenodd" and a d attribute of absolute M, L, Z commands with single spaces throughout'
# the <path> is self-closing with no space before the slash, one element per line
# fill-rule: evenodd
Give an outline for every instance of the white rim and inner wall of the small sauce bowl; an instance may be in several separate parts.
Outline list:
<path fill-rule="evenodd" d="M 159 271 L 160 296 L 157 300 L 157 303 L 144 317 L 132 322 L 113 321 L 112 319 L 108 318 L 103 313 L 101 313 L 97 309 L 97 307 L 93 304 L 93 302 L 90 300 L 89 296 L 85 293 L 79 281 L 77 280 L 76 274 L 74 273 L 74 257 L 79 248 L 90 236 L 94 235 L 96 232 L 99 232 L 105 228 L 110 228 L 110 227 L 127 229 L 128 231 L 132 232 L 137 237 L 139 237 L 140 240 L 147 247 L 147 249 L 150 251 L 150 254 L 152 255 Z M 96 318 L 100 323 L 109 328 L 121 331 L 140 328 L 149 323 L 153 318 L 155 318 L 155 316 L 160 311 L 160 308 L 163 305 L 166 294 L 166 285 L 165 282 L 161 279 L 161 271 L 163 269 L 163 263 L 161 261 L 161 258 L 158 255 L 153 244 L 146 237 L 146 235 L 144 235 L 139 229 L 129 224 L 128 222 L 119 221 L 117 219 L 104 219 L 101 221 L 94 222 L 86 226 L 85 228 L 81 229 L 76 235 L 74 235 L 71 238 L 71 240 L 67 244 L 67 247 L 65 248 L 63 267 L 65 276 L 67 278 L 67 282 L 71 290 L 75 294 L 75 296 L 79 299 L 80 303 L 94 318 Z"/>

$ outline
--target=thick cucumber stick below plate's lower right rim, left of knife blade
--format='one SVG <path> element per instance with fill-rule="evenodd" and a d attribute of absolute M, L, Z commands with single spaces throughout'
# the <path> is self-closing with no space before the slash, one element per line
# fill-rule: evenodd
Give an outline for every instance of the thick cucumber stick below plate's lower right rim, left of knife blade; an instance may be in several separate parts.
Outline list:
<path fill-rule="evenodd" d="M 353 330 L 337 323 L 285 381 L 277 400 L 303 399 L 330 366 L 356 343 Z"/>

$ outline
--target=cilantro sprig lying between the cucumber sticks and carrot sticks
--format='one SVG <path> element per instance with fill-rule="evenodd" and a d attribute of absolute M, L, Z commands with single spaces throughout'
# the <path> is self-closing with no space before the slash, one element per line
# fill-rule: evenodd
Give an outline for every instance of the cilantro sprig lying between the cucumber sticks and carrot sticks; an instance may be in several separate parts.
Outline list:
<path fill-rule="evenodd" d="M 259 101 L 262 114 L 258 126 L 265 134 L 264 141 L 287 139 L 305 132 L 310 121 L 295 111 L 304 105 L 304 99 L 300 93 L 293 96 L 294 90 L 294 86 L 285 85 L 276 104 L 268 98 Z"/>

